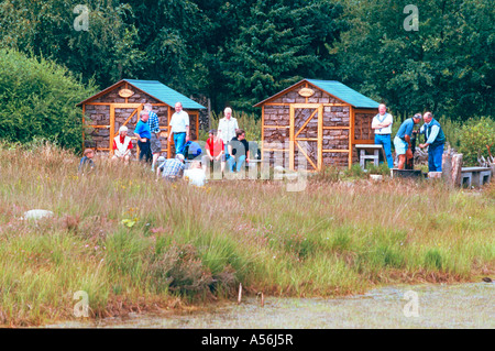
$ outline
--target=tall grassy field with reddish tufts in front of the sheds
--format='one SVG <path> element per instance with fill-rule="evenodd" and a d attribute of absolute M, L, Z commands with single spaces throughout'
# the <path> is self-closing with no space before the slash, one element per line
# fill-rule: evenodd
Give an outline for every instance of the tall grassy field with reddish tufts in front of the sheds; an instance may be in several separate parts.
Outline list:
<path fill-rule="evenodd" d="M 495 272 L 495 186 L 370 182 L 327 168 L 282 180 L 155 182 L 148 167 L 0 144 L 0 325 L 174 310 L 245 292 L 339 296 Z M 23 219 L 31 209 L 53 218 Z"/>

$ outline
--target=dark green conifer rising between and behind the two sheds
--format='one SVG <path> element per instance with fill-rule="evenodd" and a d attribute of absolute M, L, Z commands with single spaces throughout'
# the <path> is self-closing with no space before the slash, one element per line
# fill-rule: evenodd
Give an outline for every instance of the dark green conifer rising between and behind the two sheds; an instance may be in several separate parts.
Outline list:
<path fill-rule="evenodd" d="M 339 10 L 329 1 L 254 1 L 239 36 L 226 43 L 222 63 L 231 103 L 250 111 L 305 76 L 331 76 L 321 47 L 338 37 Z"/>

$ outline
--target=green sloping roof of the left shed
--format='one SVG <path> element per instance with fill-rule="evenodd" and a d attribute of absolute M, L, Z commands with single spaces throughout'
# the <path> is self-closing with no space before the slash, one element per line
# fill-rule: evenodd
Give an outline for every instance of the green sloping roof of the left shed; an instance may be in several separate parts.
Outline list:
<path fill-rule="evenodd" d="M 158 80 L 139 80 L 139 79 L 123 79 L 133 85 L 140 90 L 151 95 L 152 97 L 174 107 L 176 102 L 180 101 L 185 109 L 206 109 L 202 105 L 189 99 L 180 92 L 167 87 Z"/>

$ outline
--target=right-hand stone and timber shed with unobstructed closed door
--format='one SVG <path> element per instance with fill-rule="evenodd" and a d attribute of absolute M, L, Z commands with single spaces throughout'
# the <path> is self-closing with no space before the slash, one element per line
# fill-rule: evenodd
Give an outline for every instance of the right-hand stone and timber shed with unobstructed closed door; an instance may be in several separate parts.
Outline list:
<path fill-rule="evenodd" d="M 262 157 L 298 169 L 359 162 L 355 144 L 373 144 L 378 102 L 336 80 L 302 79 L 255 105 L 262 108 Z"/>

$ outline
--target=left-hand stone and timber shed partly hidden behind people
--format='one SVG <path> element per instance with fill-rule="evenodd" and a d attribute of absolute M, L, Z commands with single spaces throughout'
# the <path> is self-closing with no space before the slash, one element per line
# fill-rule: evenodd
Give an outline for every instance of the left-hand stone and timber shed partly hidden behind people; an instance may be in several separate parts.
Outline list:
<path fill-rule="evenodd" d="M 160 119 L 163 155 L 173 156 L 174 141 L 167 143 L 167 134 L 177 101 L 180 101 L 184 110 L 189 113 L 190 139 L 197 140 L 199 110 L 205 109 L 204 106 L 157 80 L 120 80 L 77 105 L 82 107 L 82 124 L 88 127 L 86 135 L 82 135 L 84 147 L 109 152 L 111 155 L 112 140 L 121 125 L 129 128 L 128 135 L 132 138 L 135 146 L 134 128 L 144 103 L 150 102 Z M 90 138 L 86 138 L 88 134 Z"/>

